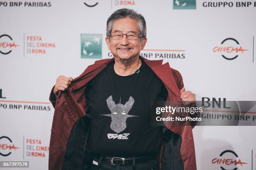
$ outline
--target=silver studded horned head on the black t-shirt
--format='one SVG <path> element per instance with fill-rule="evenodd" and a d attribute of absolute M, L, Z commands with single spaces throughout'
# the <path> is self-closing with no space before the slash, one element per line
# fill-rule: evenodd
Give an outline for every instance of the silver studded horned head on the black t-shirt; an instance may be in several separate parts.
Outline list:
<path fill-rule="evenodd" d="M 112 95 L 108 97 L 107 105 L 111 114 L 103 115 L 111 117 L 110 128 L 115 131 L 115 133 L 120 133 L 126 128 L 126 119 L 128 117 L 138 117 L 134 115 L 128 115 L 128 112 L 133 107 L 134 99 L 130 96 L 129 100 L 125 102 L 125 105 L 118 103 L 115 104 Z"/>

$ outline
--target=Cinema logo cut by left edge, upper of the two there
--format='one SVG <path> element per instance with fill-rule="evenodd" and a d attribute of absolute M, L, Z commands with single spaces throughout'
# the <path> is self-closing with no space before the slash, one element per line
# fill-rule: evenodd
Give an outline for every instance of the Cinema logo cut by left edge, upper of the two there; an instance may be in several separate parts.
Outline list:
<path fill-rule="evenodd" d="M 13 41 L 13 38 L 10 35 L 3 34 L 0 35 L 0 53 L 1 54 L 9 54 L 12 52 L 13 49 L 18 47 L 20 45 L 17 45 L 15 41 Z"/>

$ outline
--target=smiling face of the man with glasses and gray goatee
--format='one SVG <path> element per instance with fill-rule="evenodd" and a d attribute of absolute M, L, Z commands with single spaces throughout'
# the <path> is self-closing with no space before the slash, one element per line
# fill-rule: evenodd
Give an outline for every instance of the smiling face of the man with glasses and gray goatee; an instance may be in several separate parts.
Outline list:
<path fill-rule="evenodd" d="M 111 33 L 113 32 L 122 32 L 123 34 L 127 34 L 128 32 L 137 32 L 140 34 L 138 22 L 131 18 L 114 20 Z M 146 37 L 143 37 L 142 40 L 141 37 L 138 37 L 137 40 L 128 40 L 126 35 L 123 35 L 121 40 L 114 40 L 112 37 L 106 37 L 105 40 L 107 42 L 108 49 L 114 57 L 119 57 L 121 59 L 138 57 L 147 41 Z"/>

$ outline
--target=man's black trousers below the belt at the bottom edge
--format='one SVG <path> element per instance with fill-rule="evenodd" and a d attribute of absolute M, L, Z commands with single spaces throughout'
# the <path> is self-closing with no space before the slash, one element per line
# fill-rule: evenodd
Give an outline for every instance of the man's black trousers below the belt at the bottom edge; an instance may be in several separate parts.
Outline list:
<path fill-rule="evenodd" d="M 100 165 L 95 165 L 99 162 L 97 158 L 93 159 L 91 170 L 158 170 L 157 160 L 148 160 L 143 163 L 136 163 L 135 165 L 111 165 L 108 162 L 100 161 Z"/>

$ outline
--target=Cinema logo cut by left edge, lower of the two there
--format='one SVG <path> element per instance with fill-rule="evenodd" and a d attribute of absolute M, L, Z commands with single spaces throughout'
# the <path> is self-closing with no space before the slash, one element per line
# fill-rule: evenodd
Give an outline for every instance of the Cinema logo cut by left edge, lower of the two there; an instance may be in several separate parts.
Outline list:
<path fill-rule="evenodd" d="M 7 136 L 0 137 L 0 155 L 9 156 L 12 151 L 19 149 L 13 144 L 13 141 Z"/>

